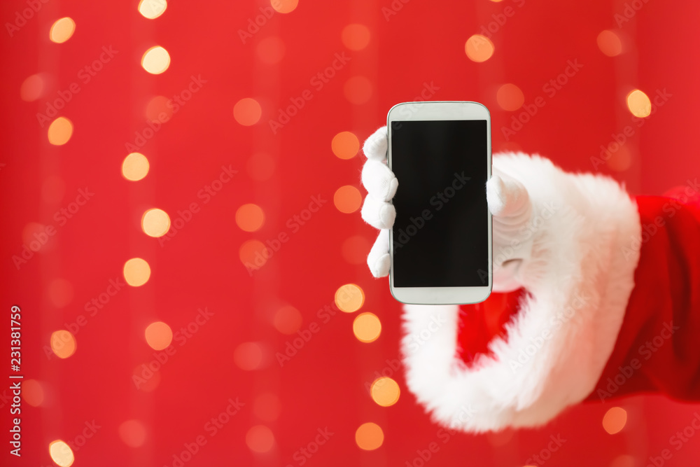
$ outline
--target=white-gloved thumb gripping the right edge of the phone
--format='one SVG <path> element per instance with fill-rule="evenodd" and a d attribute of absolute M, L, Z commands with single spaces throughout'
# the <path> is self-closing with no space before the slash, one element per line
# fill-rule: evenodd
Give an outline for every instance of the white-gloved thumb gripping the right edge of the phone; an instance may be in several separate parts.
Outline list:
<path fill-rule="evenodd" d="M 493 174 L 486 182 L 486 201 L 493 216 L 501 221 L 522 221 L 531 212 L 530 196 L 527 189 L 516 179 Z"/>

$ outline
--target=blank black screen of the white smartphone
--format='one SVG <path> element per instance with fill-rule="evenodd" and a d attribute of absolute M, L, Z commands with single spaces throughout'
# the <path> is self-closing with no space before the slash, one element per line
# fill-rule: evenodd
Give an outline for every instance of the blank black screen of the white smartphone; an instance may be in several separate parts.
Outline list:
<path fill-rule="evenodd" d="M 489 284 L 486 132 L 486 120 L 391 122 L 395 287 Z"/>

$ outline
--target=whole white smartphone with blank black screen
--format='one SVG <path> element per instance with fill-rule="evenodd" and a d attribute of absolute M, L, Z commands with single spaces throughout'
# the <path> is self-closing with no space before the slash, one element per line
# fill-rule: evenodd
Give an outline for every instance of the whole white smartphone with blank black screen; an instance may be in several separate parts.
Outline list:
<path fill-rule="evenodd" d="M 398 179 L 389 286 L 404 303 L 477 303 L 491 294 L 486 181 L 491 114 L 477 102 L 404 102 L 387 116 Z"/>

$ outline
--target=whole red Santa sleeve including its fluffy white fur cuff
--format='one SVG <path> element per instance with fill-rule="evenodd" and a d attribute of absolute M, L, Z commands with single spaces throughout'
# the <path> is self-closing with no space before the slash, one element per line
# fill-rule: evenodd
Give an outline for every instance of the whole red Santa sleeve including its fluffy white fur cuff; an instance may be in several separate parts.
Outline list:
<path fill-rule="evenodd" d="M 536 156 L 494 155 L 497 165 L 533 202 L 523 288 L 478 305 L 405 305 L 402 351 L 419 403 L 478 433 L 635 391 L 699 399 L 697 196 L 632 200 L 611 179 Z"/>

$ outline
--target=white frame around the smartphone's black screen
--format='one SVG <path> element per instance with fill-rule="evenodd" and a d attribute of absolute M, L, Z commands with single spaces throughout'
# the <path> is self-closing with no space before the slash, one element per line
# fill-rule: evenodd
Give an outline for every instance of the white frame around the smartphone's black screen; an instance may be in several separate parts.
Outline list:
<path fill-rule="evenodd" d="M 470 101 L 402 102 L 389 109 L 386 116 L 387 161 L 392 167 L 391 123 L 410 120 L 486 120 L 486 179 L 491 178 L 491 113 L 486 106 Z M 400 185 L 400 181 L 399 181 Z M 400 186 L 399 186 L 400 189 Z M 484 186 L 484 190 L 486 187 Z M 489 228 L 489 277 L 488 284 L 478 287 L 395 287 L 393 284 L 393 228 L 389 230 L 389 289 L 391 295 L 402 303 L 416 305 L 452 305 L 483 302 L 491 295 L 493 287 L 493 239 L 491 212 L 486 210 Z"/>

